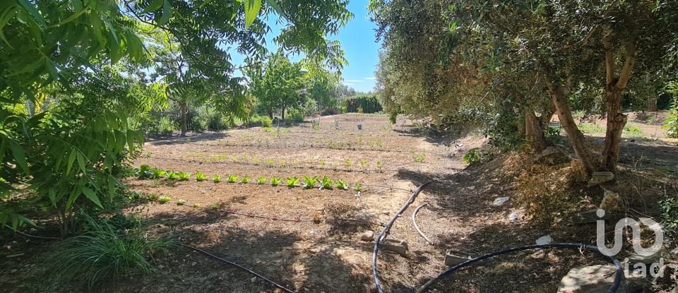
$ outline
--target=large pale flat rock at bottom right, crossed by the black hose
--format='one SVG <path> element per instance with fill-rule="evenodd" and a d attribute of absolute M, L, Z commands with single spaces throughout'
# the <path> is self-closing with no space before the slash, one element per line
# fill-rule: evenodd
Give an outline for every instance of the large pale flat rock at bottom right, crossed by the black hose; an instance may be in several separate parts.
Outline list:
<path fill-rule="evenodd" d="M 573 268 L 558 285 L 557 293 L 605 293 L 614 282 L 614 265 L 590 265 Z M 617 293 L 643 292 L 643 277 L 627 276 Z"/>

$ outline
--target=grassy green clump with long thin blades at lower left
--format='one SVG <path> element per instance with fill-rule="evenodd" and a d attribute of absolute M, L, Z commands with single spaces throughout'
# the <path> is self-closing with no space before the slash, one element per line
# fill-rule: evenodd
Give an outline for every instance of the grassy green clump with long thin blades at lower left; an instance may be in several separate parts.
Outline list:
<path fill-rule="evenodd" d="M 169 241 L 145 239 L 136 231 L 118 233 L 111 221 L 88 215 L 85 234 L 61 241 L 47 257 L 47 266 L 59 282 L 81 280 L 92 288 L 104 280 L 133 272 L 150 273 L 146 257 L 169 247 Z"/>

